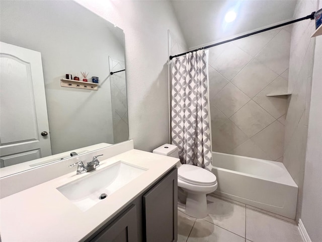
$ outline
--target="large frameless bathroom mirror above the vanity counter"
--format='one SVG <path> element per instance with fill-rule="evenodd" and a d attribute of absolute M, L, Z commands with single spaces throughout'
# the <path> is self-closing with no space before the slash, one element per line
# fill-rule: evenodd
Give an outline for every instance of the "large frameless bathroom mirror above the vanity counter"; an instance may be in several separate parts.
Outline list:
<path fill-rule="evenodd" d="M 39 52 L 44 84 L 33 82 L 29 61 L 1 49 L 1 177 L 128 140 L 123 30 L 74 1 L 0 7 L 0 41 L 10 51 Z M 77 88 L 81 72 L 88 89 Z M 81 83 L 61 86 L 66 74 Z M 91 90 L 92 76 L 99 77 L 98 90 Z M 37 115 L 48 117 L 49 128 Z M 34 146 L 41 141 L 44 149 Z"/>

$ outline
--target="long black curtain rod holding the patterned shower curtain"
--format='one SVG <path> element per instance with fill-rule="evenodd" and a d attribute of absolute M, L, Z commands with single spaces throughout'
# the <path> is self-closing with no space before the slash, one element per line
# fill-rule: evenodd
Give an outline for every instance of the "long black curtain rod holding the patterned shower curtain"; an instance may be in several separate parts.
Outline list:
<path fill-rule="evenodd" d="M 254 35 L 254 34 L 258 34 L 258 33 L 262 33 L 262 32 L 271 30 L 271 29 L 276 29 L 276 28 L 279 28 L 279 27 L 282 27 L 282 26 L 285 26 L 285 25 L 288 25 L 288 24 L 293 24 L 293 23 L 296 23 L 296 22 L 299 22 L 299 21 L 302 21 L 302 20 L 305 20 L 305 19 L 311 19 L 312 20 L 312 19 L 314 19 L 314 14 L 315 14 L 315 12 L 312 12 L 310 15 L 307 15 L 306 17 L 303 17 L 303 18 L 295 19 L 295 20 L 292 20 L 292 21 L 289 21 L 289 22 L 286 22 L 286 23 L 283 23 L 283 24 L 279 24 L 279 25 L 275 25 L 275 26 L 272 26 L 272 27 L 269 27 L 269 28 L 266 28 L 266 29 L 258 30 L 258 31 L 255 31 L 253 33 L 250 33 L 250 34 L 244 34 L 244 35 L 232 38 L 232 39 L 228 39 L 228 40 L 221 41 L 221 42 L 218 42 L 218 43 L 215 43 L 215 44 L 211 44 L 211 45 L 208 45 L 208 46 L 205 46 L 205 47 L 201 47 L 199 49 L 190 50 L 190 51 L 187 51 L 185 53 L 181 53 L 181 54 L 177 54 L 177 55 L 173 55 L 173 56 L 170 55 L 170 59 L 173 59 L 174 57 L 178 57 L 178 56 L 188 54 L 190 52 L 192 53 L 192 52 L 195 52 L 195 51 L 198 51 L 198 50 L 201 50 L 201 49 L 207 49 L 207 48 L 211 48 L 211 47 L 214 47 L 214 46 L 217 46 L 217 45 L 220 45 L 220 44 L 225 44 L 225 43 L 228 43 L 230 41 L 245 38 L 245 37 L 248 37 L 248 36 L 251 36 L 251 35 Z"/>

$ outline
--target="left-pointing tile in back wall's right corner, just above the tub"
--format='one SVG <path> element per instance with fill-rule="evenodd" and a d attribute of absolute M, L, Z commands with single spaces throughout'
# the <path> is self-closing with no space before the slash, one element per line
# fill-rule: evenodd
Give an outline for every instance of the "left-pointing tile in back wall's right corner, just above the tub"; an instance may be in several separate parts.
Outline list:
<path fill-rule="evenodd" d="M 277 120 L 256 134 L 252 140 L 273 160 L 283 156 L 284 126 Z"/>

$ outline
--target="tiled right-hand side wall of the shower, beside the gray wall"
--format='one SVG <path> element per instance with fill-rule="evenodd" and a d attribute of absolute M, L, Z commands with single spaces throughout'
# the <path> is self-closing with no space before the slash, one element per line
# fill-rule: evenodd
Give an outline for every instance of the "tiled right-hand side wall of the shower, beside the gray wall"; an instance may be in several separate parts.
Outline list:
<path fill-rule="evenodd" d="M 298 1 L 293 18 L 317 11 L 316 1 Z M 295 23 L 291 31 L 288 91 L 292 92 L 286 115 L 283 163 L 298 185 L 297 219 L 301 217 L 303 179 L 311 99 L 315 38 L 314 21 Z"/>

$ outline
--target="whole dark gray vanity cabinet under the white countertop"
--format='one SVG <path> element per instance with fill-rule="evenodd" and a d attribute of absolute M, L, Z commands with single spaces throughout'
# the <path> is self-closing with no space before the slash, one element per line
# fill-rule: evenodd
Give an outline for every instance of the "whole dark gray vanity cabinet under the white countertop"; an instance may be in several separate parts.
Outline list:
<path fill-rule="evenodd" d="M 175 242 L 178 174 L 173 168 L 86 241 Z"/>

